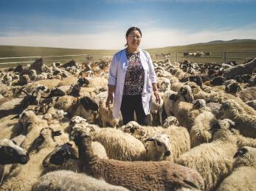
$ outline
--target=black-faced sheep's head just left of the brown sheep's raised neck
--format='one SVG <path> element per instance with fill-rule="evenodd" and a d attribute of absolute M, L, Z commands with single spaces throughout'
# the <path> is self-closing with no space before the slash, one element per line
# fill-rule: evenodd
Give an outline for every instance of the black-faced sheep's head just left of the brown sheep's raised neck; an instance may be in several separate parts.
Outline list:
<path fill-rule="evenodd" d="M 54 151 L 44 158 L 43 166 L 63 165 L 67 159 L 78 159 L 77 148 L 75 148 L 71 143 L 65 143 L 55 148 Z"/>

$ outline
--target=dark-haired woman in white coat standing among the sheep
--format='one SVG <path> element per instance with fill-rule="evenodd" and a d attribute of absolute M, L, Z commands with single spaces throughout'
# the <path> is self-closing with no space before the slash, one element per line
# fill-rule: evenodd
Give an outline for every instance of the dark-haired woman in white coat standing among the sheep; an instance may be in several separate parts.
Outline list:
<path fill-rule="evenodd" d="M 127 48 L 118 51 L 109 68 L 108 98 L 106 107 L 113 104 L 113 116 L 119 117 L 121 110 L 123 123 L 134 120 L 148 125 L 148 114 L 151 110 L 152 92 L 156 102 L 160 101 L 156 86 L 156 73 L 153 63 L 146 51 L 139 49 L 142 32 L 137 27 L 128 29 L 125 35 Z"/>

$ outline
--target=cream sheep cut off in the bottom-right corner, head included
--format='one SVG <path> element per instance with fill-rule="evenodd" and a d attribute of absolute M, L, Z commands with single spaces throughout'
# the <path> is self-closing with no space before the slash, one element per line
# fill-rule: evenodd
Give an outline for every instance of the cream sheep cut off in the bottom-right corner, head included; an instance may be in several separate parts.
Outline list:
<path fill-rule="evenodd" d="M 256 148 L 243 147 L 234 156 L 234 170 L 219 190 L 256 190 Z"/>

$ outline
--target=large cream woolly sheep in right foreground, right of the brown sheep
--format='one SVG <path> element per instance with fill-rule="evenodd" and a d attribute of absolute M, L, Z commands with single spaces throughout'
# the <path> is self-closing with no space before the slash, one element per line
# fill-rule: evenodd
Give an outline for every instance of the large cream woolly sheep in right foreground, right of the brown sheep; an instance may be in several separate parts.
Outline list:
<path fill-rule="evenodd" d="M 179 165 L 198 170 L 204 178 L 205 190 L 214 190 L 232 171 L 232 157 L 237 151 L 237 145 L 230 126 L 230 120 L 218 120 L 211 129 L 211 143 L 192 148 L 176 161 Z"/>

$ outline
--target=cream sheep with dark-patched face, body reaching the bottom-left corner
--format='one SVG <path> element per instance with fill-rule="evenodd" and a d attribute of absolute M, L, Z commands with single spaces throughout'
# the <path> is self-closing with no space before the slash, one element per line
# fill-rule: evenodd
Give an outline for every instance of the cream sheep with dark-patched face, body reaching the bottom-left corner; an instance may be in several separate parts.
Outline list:
<path fill-rule="evenodd" d="M 41 130 L 39 137 L 32 143 L 30 160 L 26 165 L 18 165 L 18 167 L 10 173 L 8 179 L 1 185 L 2 190 L 31 190 L 32 185 L 35 184 L 41 176 L 42 160 L 56 146 L 54 136 L 55 133 L 50 128 Z M 35 153 L 35 151 L 38 152 Z"/>

